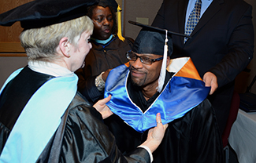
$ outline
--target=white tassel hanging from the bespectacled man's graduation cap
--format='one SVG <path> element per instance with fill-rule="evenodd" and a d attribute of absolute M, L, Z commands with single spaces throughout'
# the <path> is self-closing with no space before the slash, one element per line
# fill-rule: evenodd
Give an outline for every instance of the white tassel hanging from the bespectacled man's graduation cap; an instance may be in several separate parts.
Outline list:
<path fill-rule="evenodd" d="M 168 38 L 167 38 L 167 33 L 168 31 L 165 30 L 165 45 L 164 45 L 164 56 L 163 56 L 163 61 L 161 63 L 161 72 L 160 76 L 158 78 L 158 92 L 161 92 L 161 89 L 165 83 L 165 74 L 166 74 L 166 60 L 167 60 L 167 52 L 168 52 Z"/>

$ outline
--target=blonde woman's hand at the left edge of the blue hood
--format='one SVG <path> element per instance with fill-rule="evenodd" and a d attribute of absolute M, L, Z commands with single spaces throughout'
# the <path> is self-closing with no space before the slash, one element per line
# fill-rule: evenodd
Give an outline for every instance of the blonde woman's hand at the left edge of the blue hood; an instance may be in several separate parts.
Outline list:
<path fill-rule="evenodd" d="M 109 102 L 110 99 L 111 99 L 111 95 L 109 95 L 105 99 L 98 100 L 98 102 L 95 103 L 95 105 L 93 106 L 96 108 L 96 110 L 98 110 L 100 114 L 102 114 L 103 119 L 108 118 L 110 115 L 113 114 L 113 112 L 106 105 L 106 103 Z"/>

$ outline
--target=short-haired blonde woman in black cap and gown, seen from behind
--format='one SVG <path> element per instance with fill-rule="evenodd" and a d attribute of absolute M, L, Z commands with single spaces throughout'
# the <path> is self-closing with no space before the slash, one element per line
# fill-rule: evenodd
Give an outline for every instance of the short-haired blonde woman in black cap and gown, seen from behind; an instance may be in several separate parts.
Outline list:
<path fill-rule="evenodd" d="M 110 96 L 95 104 L 99 114 L 77 92 L 74 71 L 91 49 L 93 30 L 84 7 L 95 2 L 37 0 L 0 15 L 1 25 L 20 21 L 28 55 L 28 66 L 13 72 L 0 92 L 0 162 L 152 160 L 165 132 L 160 114 L 143 146 L 124 157 L 102 123 L 111 114 Z"/>

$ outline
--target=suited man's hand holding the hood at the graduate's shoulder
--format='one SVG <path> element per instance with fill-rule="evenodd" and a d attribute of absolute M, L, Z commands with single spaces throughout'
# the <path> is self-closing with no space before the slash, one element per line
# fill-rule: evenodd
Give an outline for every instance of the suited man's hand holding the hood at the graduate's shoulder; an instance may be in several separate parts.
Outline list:
<path fill-rule="evenodd" d="M 203 75 L 202 78 L 203 82 L 206 83 L 206 86 L 210 86 L 210 95 L 213 94 L 213 92 L 216 91 L 217 89 L 217 77 L 215 76 L 215 74 L 211 73 L 211 72 L 206 72 L 206 74 Z"/>

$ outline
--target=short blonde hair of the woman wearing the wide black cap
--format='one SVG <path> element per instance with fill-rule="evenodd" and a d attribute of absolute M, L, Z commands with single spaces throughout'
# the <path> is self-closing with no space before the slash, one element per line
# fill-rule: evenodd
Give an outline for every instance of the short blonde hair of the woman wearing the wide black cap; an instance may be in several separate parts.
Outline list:
<path fill-rule="evenodd" d="M 69 42 L 76 46 L 84 31 L 90 34 L 93 31 L 93 23 L 88 16 L 25 30 L 20 34 L 20 42 L 28 55 L 28 60 L 53 62 L 60 57 L 56 55 L 56 49 L 61 38 L 69 38 Z"/>

